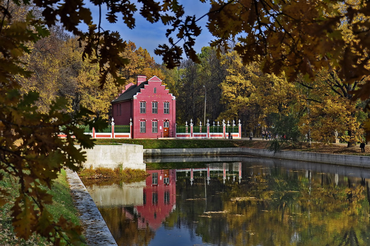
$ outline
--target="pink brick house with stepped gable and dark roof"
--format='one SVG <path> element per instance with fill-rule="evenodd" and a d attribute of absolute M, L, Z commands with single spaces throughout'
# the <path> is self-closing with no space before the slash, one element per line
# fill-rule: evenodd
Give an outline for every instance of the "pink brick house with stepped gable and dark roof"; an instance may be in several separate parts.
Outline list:
<path fill-rule="evenodd" d="M 175 137 L 176 98 L 157 76 L 137 75 L 111 103 L 115 125 L 132 119 L 132 138 Z"/>

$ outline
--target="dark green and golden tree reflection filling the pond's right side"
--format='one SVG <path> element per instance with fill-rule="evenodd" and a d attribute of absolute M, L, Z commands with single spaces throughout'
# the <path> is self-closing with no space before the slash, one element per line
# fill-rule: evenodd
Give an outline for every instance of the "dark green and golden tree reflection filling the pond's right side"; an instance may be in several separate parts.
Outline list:
<path fill-rule="evenodd" d="M 167 226 L 186 226 L 215 245 L 369 245 L 369 180 L 246 167 L 242 180 L 213 179 L 206 188 L 204 179 L 178 180 L 181 199 Z M 238 197 L 250 199 L 231 200 Z"/>

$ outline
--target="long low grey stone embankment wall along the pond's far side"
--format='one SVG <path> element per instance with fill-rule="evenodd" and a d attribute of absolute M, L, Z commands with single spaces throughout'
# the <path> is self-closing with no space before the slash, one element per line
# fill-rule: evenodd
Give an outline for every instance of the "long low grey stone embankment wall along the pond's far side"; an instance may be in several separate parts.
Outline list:
<path fill-rule="evenodd" d="M 250 148 L 189 148 L 189 149 L 144 149 L 144 156 L 170 155 L 253 155 L 268 158 L 325 163 L 359 168 L 370 168 L 369 156 L 322 154 L 301 151 L 276 151 Z"/>

